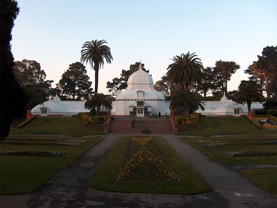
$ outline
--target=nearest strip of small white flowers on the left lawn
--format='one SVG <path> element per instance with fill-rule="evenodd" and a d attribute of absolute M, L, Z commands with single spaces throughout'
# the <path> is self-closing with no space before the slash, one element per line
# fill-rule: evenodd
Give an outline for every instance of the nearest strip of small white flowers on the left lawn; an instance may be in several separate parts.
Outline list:
<path fill-rule="evenodd" d="M 61 157 L 67 152 L 45 152 L 45 151 L 6 151 L 1 156 L 39 156 L 39 157 Z"/>

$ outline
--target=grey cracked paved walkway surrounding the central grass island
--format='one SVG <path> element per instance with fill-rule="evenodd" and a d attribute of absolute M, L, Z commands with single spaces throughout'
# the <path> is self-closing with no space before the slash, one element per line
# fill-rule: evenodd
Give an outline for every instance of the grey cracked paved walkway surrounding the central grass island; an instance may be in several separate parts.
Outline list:
<path fill-rule="evenodd" d="M 276 168 L 276 165 L 223 164 L 175 135 L 163 137 L 213 188 L 201 194 L 144 194 L 98 191 L 86 185 L 102 159 L 118 139 L 107 135 L 83 156 L 62 169 L 34 193 L 1 196 L 1 207 L 276 207 L 276 194 L 253 185 L 238 172 L 249 168 Z M 154 136 L 154 135 L 153 135 Z"/>

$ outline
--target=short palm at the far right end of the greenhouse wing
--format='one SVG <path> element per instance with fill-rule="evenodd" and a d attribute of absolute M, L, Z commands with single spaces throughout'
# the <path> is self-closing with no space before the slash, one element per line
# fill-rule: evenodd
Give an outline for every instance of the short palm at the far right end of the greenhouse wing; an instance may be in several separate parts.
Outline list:
<path fill-rule="evenodd" d="M 251 109 L 251 102 L 262 102 L 263 96 L 261 96 L 259 89 L 253 83 L 245 83 L 239 86 L 239 91 L 236 94 L 236 102 L 245 104 L 247 103 L 248 114 Z"/>

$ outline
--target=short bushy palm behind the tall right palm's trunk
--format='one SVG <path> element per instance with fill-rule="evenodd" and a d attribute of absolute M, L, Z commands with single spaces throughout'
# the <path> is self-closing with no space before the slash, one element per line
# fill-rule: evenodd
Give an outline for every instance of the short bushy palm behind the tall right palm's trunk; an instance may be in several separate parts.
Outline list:
<path fill-rule="evenodd" d="M 184 90 L 177 89 L 172 94 L 172 99 L 170 102 L 170 109 L 174 110 L 177 113 L 184 114 L 185 111 L 185 100 L 186 100 L 186 92 Z M 202 105 L 203 102 L 200 101 L 200 94 L 196 91 L 189 91 L 189 111 L 190 113 L 194 113 L 196 110 L 201 108 L 201 110 L 205 110 Z"/>

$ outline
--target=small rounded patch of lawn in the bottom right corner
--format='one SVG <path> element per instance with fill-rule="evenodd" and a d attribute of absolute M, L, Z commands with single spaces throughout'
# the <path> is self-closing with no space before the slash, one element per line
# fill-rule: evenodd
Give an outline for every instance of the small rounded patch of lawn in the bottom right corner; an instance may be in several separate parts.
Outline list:
<path fill-rule="evenodd" d="M 277 193 L 277 170 L 276 169 L 253 169 L 242 170 L 239 172 L 244 177 L 248 178 L 259 188 Z"/>

